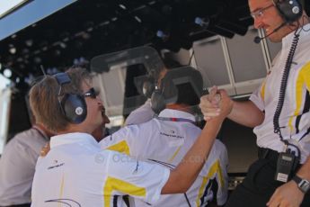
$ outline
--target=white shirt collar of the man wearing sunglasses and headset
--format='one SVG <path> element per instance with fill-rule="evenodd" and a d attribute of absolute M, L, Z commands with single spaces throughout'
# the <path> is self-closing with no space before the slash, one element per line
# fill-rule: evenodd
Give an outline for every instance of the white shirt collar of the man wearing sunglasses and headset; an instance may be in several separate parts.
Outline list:
<path fill-rule="evenodd" d="M 50 138 L 50 148 L 55 148 L 60 145 L 66 144 L 91 144 L 99 148 L 98 142 L 93 138 L 92 135 L 87 133 L 75 132 L 75 133 L 66 133 L 53 136 Z"/>

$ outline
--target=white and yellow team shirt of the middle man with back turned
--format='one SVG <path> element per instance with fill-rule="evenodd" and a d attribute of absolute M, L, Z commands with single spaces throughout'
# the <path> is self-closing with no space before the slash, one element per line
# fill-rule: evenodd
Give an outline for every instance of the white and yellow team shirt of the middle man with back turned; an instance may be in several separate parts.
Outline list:
<path fill-rule="evenodd" d="M 120 151 L 131 157 L 152 160 L 174 168 L 198 138 L 201 130 L 188 112 L 165 109 L 158 118 L 130 125 L 102 139 L 102 148 Z M 195 161 L 195 157 L 192 157 Z M 216 139 L 199 177 L 185 194 L 162 195 L 152 206 L 205 206 L 213 199 L 223 205 L 227 198 L 228 163 L 226 147 Z M 217 189 L 215 192 L 212 189 Z M 149 206 L 135 200 L 136 206 Z"/>

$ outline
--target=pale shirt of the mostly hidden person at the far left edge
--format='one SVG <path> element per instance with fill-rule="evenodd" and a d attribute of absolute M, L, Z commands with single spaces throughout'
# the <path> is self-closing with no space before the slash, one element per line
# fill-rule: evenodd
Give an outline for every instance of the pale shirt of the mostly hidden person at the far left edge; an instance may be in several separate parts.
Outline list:
<path fill-rule="evenodd" d="M 0 158 L 0 206 L 31 203 L 36 162 L 48 141 L 44 131 L 33 126 L 18 133 L 5 146 Z"/>

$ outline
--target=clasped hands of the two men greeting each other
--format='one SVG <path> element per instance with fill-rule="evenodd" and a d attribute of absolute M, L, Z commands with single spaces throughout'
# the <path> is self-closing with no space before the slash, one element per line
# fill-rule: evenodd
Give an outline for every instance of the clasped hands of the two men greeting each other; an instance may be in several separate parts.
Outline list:
<path fill-rule="evenodd" d="M 217 90 L 217 86 L 213 86 L 209 94 L 200 98 L 199 107 L 203 113 L 204 120 L 209 121 L 223 113 L 223 111 L 225 111 L 224 114 L 229 114 L 233 109 L 233 101 L 226 94 L 225 90 Z"/>

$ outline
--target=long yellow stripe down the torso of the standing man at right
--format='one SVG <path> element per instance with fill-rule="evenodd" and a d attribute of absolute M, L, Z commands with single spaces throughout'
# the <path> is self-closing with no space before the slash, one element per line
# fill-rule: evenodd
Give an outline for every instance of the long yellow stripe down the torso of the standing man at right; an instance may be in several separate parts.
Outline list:
<path fill-rule="evenodd" d="M 296 88 L 295 88 L 295 95 L 296 95 L 296 109 L 294 111 L 293 116 L 291 116 L 288 120 L 288 127 L 290 131 L 294 130 L 293 120 L 297 115 L 300 113 L 301 104 L 303 100 L 303 86 L 310 88 L 310 62 L 308 62 L 304 67 L 299 70 L 297 81 L 296 81 Z"/>

